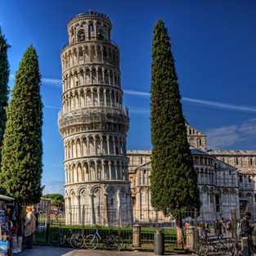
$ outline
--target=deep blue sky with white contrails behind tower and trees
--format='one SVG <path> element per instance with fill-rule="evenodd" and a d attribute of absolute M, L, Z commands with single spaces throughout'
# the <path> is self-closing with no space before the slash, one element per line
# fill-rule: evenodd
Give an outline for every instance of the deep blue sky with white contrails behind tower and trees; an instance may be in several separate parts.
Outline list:
<path fill-rule="evenodd" d="M 11 45 L 10 88 L 27 47 L 38 52 L 43 98 L 44 193 L 64 192 L 61 50 L 66 25 L 80 12 L 110 17 L 119 46 L 124 105 L 129 108 L 128 149 L 151 149 L 150 64 L 155 22 L 168 29 L 183 114 L 208 134 L 209 148 L 254 149 L 256 143 L 256 1 L 2 1 L 0 25 Z"/>

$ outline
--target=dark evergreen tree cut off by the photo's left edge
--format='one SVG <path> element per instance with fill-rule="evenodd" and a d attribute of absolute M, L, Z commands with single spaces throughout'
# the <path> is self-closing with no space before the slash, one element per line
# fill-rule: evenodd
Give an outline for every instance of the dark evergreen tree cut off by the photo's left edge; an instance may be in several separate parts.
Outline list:
<path fill-rule="evenodd" d="M 5 108 L 8 106 L 8 81 L 9 81 L 9 63 L 7 60 L 7 40 L 2 34 L 0 27 L 0 166 L 2 160 L 2 141 L 6 128 L 7 113 Z"/>

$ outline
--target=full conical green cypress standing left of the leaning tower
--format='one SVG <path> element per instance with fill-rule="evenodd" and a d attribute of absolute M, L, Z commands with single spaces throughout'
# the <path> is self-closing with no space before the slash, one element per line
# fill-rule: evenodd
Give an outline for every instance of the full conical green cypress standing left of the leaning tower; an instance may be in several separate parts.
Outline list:
<path fill-rule="evenodd" d="M 30 46 L 20 61 L 7 107 L 0 182 L 21 203 L 37 203 L 42 195 L 43 103 L 38 56 Z"/>

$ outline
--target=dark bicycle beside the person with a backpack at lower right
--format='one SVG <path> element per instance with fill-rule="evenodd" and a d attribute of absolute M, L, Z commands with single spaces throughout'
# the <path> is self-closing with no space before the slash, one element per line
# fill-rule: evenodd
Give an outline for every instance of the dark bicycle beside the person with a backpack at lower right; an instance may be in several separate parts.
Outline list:
<path fill-rule="evenodd" d="M 213 247 L 213 251 L 225 256 L 236 255 L 236 245 L 230 239 L 222 239 L 222 236 L 211 239 L 208 236 L 209 231 L 204 231 L 204 237 L 195 240 L 195 254 L 203 256 L 209 251 L 209 246 Z M 216 236 L 215 236 L 216 237 Z"/>

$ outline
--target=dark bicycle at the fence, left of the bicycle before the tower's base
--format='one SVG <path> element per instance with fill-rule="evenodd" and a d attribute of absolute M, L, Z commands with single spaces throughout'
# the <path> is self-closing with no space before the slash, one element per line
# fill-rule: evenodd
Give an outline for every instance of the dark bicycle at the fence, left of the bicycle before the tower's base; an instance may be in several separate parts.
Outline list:
<path fill-rule="evenodd" d="M 74 249 L 79 249 L 83 247 L 84 238 L 80 233 L 74 233 L 73 229 L 70 229 L 70 236 L 66 236 L 63 234 L 61 227 L 58 231 L 52 232 L 48 238 L 48 244 L 52 247 L 67 245 L 68 243 Z"/>

